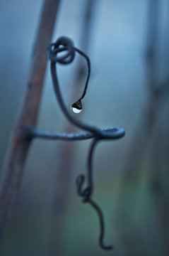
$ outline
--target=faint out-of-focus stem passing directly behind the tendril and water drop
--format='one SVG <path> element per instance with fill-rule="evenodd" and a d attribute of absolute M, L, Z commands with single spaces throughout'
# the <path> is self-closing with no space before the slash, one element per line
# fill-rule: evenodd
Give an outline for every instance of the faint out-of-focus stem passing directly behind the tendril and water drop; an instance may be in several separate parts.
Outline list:
<path fill-rule="evenodd" d="M 91 33 L 91 21 L 94 11 L 95 0 L 86 1 L 86 10 L 83 16 L 81 26 L 81 49 L 87 53 L 88 43 Z M 78 91 L 83 88 L 84 75 L 86 74 L 86 62 L 83 58 L 79 58 L 76 68 L 76 77 L 72 82 L 73 89 L 71 90 L 70 98 L 74 102 L 78 98 Z M 73 128 L 74 129 L 74 128 Z M 64 128 L 65 132 L 72 131 L 71 124 L 67 124 Z M 59 142 L 59 157 L 57 157 L 57 167 L 54 168 L 54 178 L 52 178 L 51 188 L 51 213 L 50 213 L 50 228 L 49 228 L 49 255 L 62 254 L 62 232 L 64 225 L 64 209 L 66 207 L 67 198 L 69 196 L 69 183 L 71 176 L 74 174 L 72 164 L 74 161 L 75 144 Z M 63 158 L 66 156 L 66 159 Z"/>

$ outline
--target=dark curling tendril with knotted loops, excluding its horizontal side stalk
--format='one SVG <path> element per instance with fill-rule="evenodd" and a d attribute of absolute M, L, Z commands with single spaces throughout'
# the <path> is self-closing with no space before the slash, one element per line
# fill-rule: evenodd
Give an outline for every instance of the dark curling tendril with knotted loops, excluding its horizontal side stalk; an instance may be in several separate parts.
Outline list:
<path fill-rule="evenodd" d="M 111 127 L 108 129 L 99 129 L 97 127 L 90 126 L 88 124 L 85 124 L 83 122 L 80 122 L 78 119 L 73 117 L 69 111 L 66 108 L 66 105 L 64 103 L 62 93 L 59 88 L 59 82 L 57 79 L 57 63 L 66 65 L 71 63 L 74 58 L 76 53 L 79 53 L 82 55 L 88 65 L 88 76 L 86 79 L 86 85 L 83 90 L 83 94 L 80 97 L 79 100 L 74 102 L 74 104 L 71 106 L 72 109 L 76 109 L 77 112 L 78 110 L 82 109 L 81 105 L 81 100 L 83 97 L 86 95 L 86 90 L 88 87 L 88 80 L 91 74 L 91 61 L 88 58 L 88 56 L 83 53 L 81 50 L 78 48 L 74 47 L 74 43 L 71 41 L 71 39 L 62 36 L 60 37 L 55 43 L 51 43 L 48 46 L 48 52 L 49 52 L 49 59 L 50 59 L 50 69 L 51 69 L 51 74 L 52 74 L 52 82 L 54 85 L 54 92 L 57 97 L 57 100 L 59 102 L 59 105 L 64 112 L 65 116 L 67 119 L 69 119 L 69 122 L 74 124 L 76 127 L 83 129 L 87 132 L 90 132 L 93 137 L 93 142 L 91 143 L 91 148 L 88 153 L 88 170 L 86 177 L 83 174 L 78 175 L 76 178 L 76 188 L 77 188 L 77 193 L 78 196 L 81 197 L 81 200 L 83 203 L 89 203 L 98 213 L 98 219 L 100 222 L 100 237 L 99 237 L 99 244 L 100 247 L 102 247 L 105 250 L 111 250 L 112 246 L 111 245 L 105 245 L 103 242 L 104 238 L 104 233 L 105 233 L 105 225 L 104 225 L 104 220 L 103 220 L 103 213 L 102 210 L 100 210 L 100 207 L 98 204 L 96 204 L 93 199 L 91 198 L 93 194 L 93 152 L 95 149 L 95 145 L 103 139 L 119 139 L 124 136 L 124 129 L 120 127 Z M 85 187 L 85 180 L 87 179 L 86 183 L 87 186 Z"/>

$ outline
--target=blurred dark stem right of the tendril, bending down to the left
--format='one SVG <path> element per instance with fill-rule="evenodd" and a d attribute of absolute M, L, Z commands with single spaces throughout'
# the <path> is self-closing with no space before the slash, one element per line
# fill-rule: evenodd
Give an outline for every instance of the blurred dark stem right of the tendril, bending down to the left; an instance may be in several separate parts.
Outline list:
<path fill-rule="evenodd" d="M 124 182 L 132 177 L 132 174 L 139 169 L 144 159 L 147 146 L 151 141 L 151 134 L 156 123 L 157 110 L 161 103 L 161 90 L 158 81 L 158 60 L 157 60 L 157 40 L 158 40 L 158 16 L 160 1 L 148 1 L 148 22 L 147 22 L 147 38 L 146 38 L 146 75 L 148 102 L 146 110 L 144 109 L 145 122 L 139 120 L 136 133 L 132 139 L 129 149 L 127 161 L 124 167 Z M 143 127 L 144 124 L 144 127 Z M 140 133 L 141 132 L 141 133 Z"/>

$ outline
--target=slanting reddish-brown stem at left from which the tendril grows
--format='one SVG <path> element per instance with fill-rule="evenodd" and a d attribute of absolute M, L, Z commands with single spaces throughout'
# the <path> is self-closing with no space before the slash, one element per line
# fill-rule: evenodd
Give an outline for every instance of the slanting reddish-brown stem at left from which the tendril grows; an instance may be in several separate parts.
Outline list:
<path fill-rule="evenodd" d="M 59 0 L 45 0 L 42 8 L 27 87 L 15 127 L 11 134 L 11 141 L 4 163 L 4 176 L 0 192 L 0 241 L 13 201 L 21 185 L 23 165 L 30 148 L 31 140 L 28 139 L 26 132 L 22 132 L 22 129 L 25 127 L 35 127 L 37 122 L 47 66 L 46 48 L 52 38 L 58 7 Z"/>

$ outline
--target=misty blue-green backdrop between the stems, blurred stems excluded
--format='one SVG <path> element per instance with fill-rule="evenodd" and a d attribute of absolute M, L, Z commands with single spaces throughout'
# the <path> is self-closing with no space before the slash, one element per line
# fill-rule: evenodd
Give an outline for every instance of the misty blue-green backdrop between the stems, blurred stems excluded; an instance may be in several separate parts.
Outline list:
<path fill-rule="evenodd" d="M 0 2 L 1 166 L 25 91 L 42 3 L 39 0 Z M 62 35 L 69 36 L 80 48 L 81 18 L 85 4 L 84 0 L 61 1 L 53 41 Z M 168 76 L 168 10 L 168 1 L 161 0 L 158 33 L 160 82 Z M 124 163 L 138 124 L 141 124 L 138 137 L 144 135 L 142 127 L 146 122 L 148 99 L 145 65 L 147 21 L 148 0 L 95 1 L 88 48 L 91 79 L 80 115 L 88 124 L 98 127 L 120 126 L 126 130 L 123 139 L 100 143 L 94 156 L 94 198 L 105 213 L 105 241 L 115 245 L 115 251 L 100 250 L 95 213 L 89 206 L 81 204 L 76 196 L 74 181 L 77 174 L 86 171 L 90 144 L 76 142 L 72 143 L 73 172 L 62 216 L 62 249 L 59 249 L 62 252 L 58 252 L 58 255 L 167 255 L 163 230 L 158 226 L 156 210 L 148 190 L 148 156 L 144 164 L 141 163 L 141 169 L 135 170 L 132 185 L 127 183 L 127 187 L 122 188 L 122 201 L 119 201 Z M 60 65 L 58 71 L 69 109 L 77 60 L 78 57 L 68 67 Z M 163 104 L 163 110 L 165 109 L 168 109 L 168 102 Z M 168 113 L 163 110 L 158 114 L 155 138 L 161 123 L 168 124 Z M 64 131 L 66 124 L 55 100 L 48 63 L 38 127 Z M 167 128 L 163 132 L 167 134 Z M 168 142 L 166 137 L 162 138 L 162 142 Z M 57 170 L 57 152 L 61 145 L 60 142 L 43 140 L 33 142 L 25 164 L 21 190 L 8 223 L 2 255 L 48 255 L 50 183 L 52 172 Z M 164 169 L 168 168 L 166 148 L 167 144 L 163 149 Z M 147 150 L 150 151 L 151 146 Z M 62 158 L 66 161 L 66 155 Z M 165 180 L 163 177 L 162 179 Z"/>

